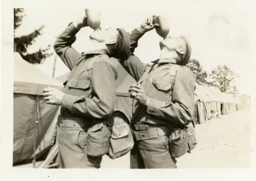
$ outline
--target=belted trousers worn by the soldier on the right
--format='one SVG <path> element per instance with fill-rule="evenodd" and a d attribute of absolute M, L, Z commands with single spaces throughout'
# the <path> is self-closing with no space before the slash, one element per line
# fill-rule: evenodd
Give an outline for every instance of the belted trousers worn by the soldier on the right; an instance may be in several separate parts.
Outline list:
<path fill-rule="evenodd" d="M 164 133 L 161 131 L 161 126 L 156 126 L 153 129 L 133 131 L 134 147 L 131 150 L 130 167 L 132 169 L 177 168 L 177 161 L 171 156 L 169 151 L 168 129 Z M 150 132 L 153 133 L 150 134 Z"/>

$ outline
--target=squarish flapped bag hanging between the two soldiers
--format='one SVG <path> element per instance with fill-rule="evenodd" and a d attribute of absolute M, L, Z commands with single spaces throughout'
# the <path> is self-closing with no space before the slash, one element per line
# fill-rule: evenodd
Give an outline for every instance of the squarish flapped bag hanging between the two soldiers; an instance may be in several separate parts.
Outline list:
<path fill-rule="evenodd" d="M 134 145 L 129 125 L 123 123 L 112 128 L 109 157 L 121 157 L 129 152 Z"/>

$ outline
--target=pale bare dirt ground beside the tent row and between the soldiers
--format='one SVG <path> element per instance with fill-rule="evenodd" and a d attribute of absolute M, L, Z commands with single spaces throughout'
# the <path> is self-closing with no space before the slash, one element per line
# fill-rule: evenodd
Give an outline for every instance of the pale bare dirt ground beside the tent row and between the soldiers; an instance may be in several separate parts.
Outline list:
<path fill-rule="evenodd" d="M 250 108 L 196 125 L 198 144 L 177 159 L 178 168 L 250 168 L 252 125 Z M 102 168 L 129 168 L 129 153 L 111 160 L 104 156 Z"/>

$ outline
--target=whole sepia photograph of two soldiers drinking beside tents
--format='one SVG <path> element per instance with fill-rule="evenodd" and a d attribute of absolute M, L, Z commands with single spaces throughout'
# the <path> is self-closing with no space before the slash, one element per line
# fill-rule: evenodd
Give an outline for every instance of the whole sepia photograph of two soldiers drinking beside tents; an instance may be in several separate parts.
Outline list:
<path fill-rule="evenodd" d="M 12 168 L 253 168 L 252 8 L 232 2 L 13 8 Z"/>

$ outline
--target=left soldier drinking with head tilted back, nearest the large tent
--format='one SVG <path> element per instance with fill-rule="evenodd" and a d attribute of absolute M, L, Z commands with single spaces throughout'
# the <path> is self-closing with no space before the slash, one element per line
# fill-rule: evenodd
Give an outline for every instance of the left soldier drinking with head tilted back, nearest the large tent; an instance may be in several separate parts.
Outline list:
<path fill-rule="evenodd" d="M 98 29 L 90 35 L 93 51 L 72 48 L 76 33 L 88 26 L 86 17 L 72 22 L 58 36 L 54 50 L 71 70 L 63 91 L 46 88 L 47 104 L 60 105 L 57 143 L 60 168 L 100 168 L 109 149 L 106 120 L 115 103 L 116 70 L 109 57 L 125 58 L 130 52 L 124 29 Z"/>

